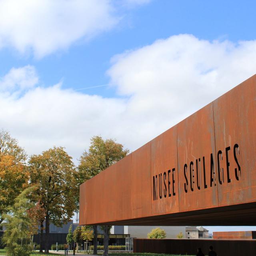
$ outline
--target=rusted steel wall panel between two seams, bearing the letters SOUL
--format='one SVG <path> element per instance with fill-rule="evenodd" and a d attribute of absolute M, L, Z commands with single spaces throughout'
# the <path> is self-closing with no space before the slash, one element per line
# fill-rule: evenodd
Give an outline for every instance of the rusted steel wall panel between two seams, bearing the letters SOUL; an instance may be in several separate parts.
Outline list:
<path fill-rule="evenodd" d="M 212 109 L 208 104 L 177 125 L 180 212 L 218 206 Z"/>

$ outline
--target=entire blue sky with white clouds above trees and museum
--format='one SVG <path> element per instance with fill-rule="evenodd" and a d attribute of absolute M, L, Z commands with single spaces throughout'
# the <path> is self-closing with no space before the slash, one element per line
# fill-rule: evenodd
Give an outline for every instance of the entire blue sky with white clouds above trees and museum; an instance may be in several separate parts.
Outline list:
<path fill-rule="evenodd" d="M 0 0 L 2 128 L 28 154 L 65 146 L 76 163 L 97 134 L 135 150 L 256 73 L 255 10 L 253 0 Z"/>

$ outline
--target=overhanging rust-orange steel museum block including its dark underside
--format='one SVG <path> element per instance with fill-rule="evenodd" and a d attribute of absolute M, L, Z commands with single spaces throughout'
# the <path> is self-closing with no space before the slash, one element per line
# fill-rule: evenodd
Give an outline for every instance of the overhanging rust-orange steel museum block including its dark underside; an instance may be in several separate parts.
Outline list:
<path fill-rule="evenodd" d="M 83 183 L 79 221 L 255 225 L 256 75 Z"/>

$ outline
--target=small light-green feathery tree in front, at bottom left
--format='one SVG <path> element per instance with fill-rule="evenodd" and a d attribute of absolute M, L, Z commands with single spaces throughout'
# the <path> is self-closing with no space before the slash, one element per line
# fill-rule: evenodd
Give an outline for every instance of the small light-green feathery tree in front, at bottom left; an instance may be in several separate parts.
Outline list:
<path fill-rule="evenodd" d="M 27 198 L 27 194 L 33 188 L 24 190 L 15 200 L 14 205 L 9 207 L 9 214 L 4 215 L 4 232 L 3 242 L 6 244 L 7 254 L 9 256 L 28 256 L 31 247 L 28 245 L 30 239 L 31 220 L 28 216 L 28 209 L 32 204 Z"/>

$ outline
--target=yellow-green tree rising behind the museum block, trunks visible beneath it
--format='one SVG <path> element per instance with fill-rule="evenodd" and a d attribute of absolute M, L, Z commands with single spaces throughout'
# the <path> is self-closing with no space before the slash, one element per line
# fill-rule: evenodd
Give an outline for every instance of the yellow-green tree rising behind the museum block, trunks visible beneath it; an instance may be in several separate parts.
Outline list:
<path fill-rule="evenodd" d="M 124 158 L 129 153 L 128 149 L 124 149 L 122 144 L 116 143 L 113 139 L 103 140 L 101 136 L 91 138 L 90 148 L 85 151 L 80 157 L 78 165 L 79 183 L 89 180 L 101 171 L 105 170 L 112 164 L 115 164 L 120 159 Z M 94 230 L 94 251 L 97 254 L 97 226 L 93 226 Z M 108 230 L 110 227 L 103 228 L 104 230 L 104 255 L 108 255 Z"/>

